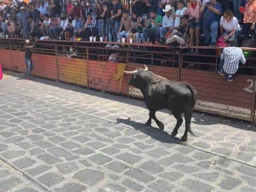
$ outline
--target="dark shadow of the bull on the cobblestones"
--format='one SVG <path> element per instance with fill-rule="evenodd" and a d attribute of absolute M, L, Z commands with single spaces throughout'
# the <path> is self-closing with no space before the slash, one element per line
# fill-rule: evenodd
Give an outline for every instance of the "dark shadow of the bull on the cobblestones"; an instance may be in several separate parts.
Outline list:
<path fill-rule="evenodd" d="M 138 130 L 141 133 L 144 133 L 150 136 L 151 138 L 162 143 L 184 144 L 183 142 L 180 142 L 180 139 L 178 137 L 173 137 L 169 135 L 166 131 L 160 130 L 158 127 L 145 126 L 144 123 L 132 121 L 131 118 L 128 118 L 128 119 L 117 118 L 115 123 L 116 124 L 122 123 L 125 126 L 133 127 L 134 130 Z"/>

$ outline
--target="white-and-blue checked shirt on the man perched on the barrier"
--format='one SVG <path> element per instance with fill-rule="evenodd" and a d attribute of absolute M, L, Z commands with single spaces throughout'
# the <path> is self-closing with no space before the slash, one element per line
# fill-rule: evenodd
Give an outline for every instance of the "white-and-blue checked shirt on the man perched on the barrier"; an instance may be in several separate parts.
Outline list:
<path fill-rule="evenodd" d="M 238 47 L 226 47 L 223 49 L 222 56 L 224 58 L 223 70 L 227 74 L 235 74 L 238 70 L 239 62 L 246 62 L 242 49 Z"/>

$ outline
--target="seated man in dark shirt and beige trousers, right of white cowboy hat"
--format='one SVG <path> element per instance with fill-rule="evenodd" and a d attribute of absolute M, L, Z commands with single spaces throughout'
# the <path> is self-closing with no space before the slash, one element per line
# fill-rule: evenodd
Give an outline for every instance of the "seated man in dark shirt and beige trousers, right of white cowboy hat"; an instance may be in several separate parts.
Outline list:
<path fill-rule="evenodd" d="M 189 16 L 183 15 L 181 18 L 181 24 L 174 29 L 171 29 L 172 33 L 166 39 L 165 44 L 169 45 L 171 43 L 178 43 L 181 45 L 193 45 L 193 37 L 194 37 L 194 26 L 191 22 L 189 22 Z"/>

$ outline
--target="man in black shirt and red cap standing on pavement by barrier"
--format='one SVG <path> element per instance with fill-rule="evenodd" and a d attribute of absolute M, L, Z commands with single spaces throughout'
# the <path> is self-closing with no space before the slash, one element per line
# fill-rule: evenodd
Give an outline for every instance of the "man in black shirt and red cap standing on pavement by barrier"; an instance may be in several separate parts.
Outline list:
<path fill-rule="evenodd" d="M 37 39 L 36 39 L 37 42 Z M 26 68 L 27 68 L 27 72 L 26 72 L 26 79 L 27 80 L 31 80 L 31 72 L 33 70 L 33 62 L 32 62 L 32 51 L 31 49 L 33 49 L 35 47 L 35 43 L 31 43 L 29 40 L 25 40 L 25 44 L 24 44 L 24 49 L 25 49 L 25 64 L 26 64 Z"/>

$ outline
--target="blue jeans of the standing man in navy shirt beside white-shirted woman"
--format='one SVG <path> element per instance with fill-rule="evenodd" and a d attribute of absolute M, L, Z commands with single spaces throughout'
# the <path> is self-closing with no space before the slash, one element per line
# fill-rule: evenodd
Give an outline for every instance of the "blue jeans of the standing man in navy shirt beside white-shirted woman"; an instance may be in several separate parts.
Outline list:
<path fill-rule="evenodd" d="M 218 27 L 219 27 L 218 21 L 214 21 L 211 25 L 203 24 L 206 46 L 209 45 L 209 42 L 211 43 L 216 42 L 216 38 L 218 36 Z"/>

